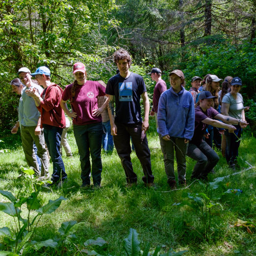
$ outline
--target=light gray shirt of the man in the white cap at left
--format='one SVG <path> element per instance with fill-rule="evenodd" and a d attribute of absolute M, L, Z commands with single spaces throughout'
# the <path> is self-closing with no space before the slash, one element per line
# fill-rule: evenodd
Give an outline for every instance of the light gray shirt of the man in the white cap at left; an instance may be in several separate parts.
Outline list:
<path fill-rule="evenodd" d="M 36 88 L 38 93 L 44 90 L 37 84 L 33 83 L 30 87 L 31 90 Z M 35 101 L 32 97 L 29 97 L 25 92 L 28 88 L 24 87 L 22 90 L 22 97 L 19 99 L 19 124 L 24 126 L 36 126 L 38 118 L 40 117 L 40 112 L 37 110 Z"/>

